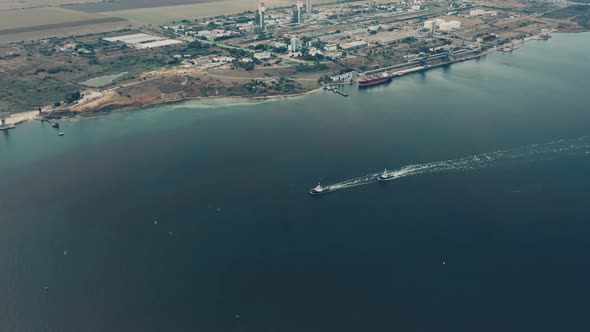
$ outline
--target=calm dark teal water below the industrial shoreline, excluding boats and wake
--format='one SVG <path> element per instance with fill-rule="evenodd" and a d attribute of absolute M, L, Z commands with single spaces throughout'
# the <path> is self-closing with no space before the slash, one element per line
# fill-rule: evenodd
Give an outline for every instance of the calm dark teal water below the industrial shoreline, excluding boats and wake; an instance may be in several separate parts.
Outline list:
<path fill-rule="evenodd" d="M 588 331 L 589 51 L 2 133 L 0 330 Z"/>

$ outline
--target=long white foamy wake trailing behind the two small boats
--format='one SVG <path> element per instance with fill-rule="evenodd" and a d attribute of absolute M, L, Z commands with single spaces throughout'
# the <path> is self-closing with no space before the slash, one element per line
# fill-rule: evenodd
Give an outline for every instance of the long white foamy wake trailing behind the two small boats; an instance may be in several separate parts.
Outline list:
<path fill-rule="evenodd" d="M 402 166 L 389 171 L 387 174 L 392 175 L 393 179 L 399 179 L 426 173 L 462 172 L 491 168 L 509 161 L 534 162 L 538 160 L 552 160 L 569 155 L 590 155 L 590 136 L 526 145 L 515 149 L 498 150 L 460 159 Z M 330 191 L 336 191 L 364 186 L 377 182 L 377 179 L 382 174 L 382 172 L 367 174 L 362 177 L 331 184 L 326 186 L 326 188 Z"/>

